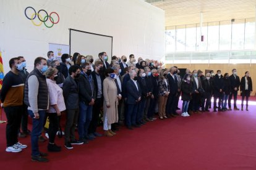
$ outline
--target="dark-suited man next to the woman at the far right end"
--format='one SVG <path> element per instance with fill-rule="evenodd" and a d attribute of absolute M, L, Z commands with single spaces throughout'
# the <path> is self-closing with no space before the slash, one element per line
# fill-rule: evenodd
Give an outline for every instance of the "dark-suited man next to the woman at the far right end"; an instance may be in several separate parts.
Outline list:
<path fill-rule="evenodd" d="M 231 84 L 231 94 L 229 95 L 228 98 L 228 107 L 229 110 L 231 109 L 231 99 L 234 95 L 234 110 L 239 110 L 239 108 L 236 107 L 236 100 L 237 100 L 237 91 L 239 91 L 239 86 L 240 86 L 240 78 L 237 76 L 236 69 L 232 70 L 233 75 L 229 76 L 229 81 Z"/>

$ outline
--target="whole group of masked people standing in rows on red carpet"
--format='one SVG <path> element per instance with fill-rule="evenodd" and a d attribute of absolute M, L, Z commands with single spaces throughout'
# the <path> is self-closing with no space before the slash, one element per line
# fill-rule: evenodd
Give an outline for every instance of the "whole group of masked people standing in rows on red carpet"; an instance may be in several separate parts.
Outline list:
<path fill-rule="evenodd" d="M 162 68 L 153 60 L 143 60 L 135 56 L 111 57 L 108 63 L 106 52 L 83 56 L 76 52 L 73 56 L 62 54 L 61 62 L 54 60 L 53 51 L 48 59 L 37 57 L 34 69 L 28 73 L 24 57 L 9 60 L 9 71 L 3 79 L 1 102 L 7 116 L 6 152 L 21 152 L 27 145 L 20 144 L 18 134 L 30 134 L 32 161 L 46 162 L 47 153 L 38 147 L 46 118 L 49 119 L 48 151 L 59 152 L 55 144 L 59 121 L 66 114 L 64 127 L 64 147 L 88 144 L 89 140 L 101 137 L 96 131 L 99 120 L 103 121 L 104 136 L 113 137 L 119 126 L 126 125 L 130 130 L 154 121 L 155 114 L 160 119 L 176 117 L 179 99 L 183 100 L 181 116 L 213 110 L 231 110 L 234 96 L 234 110 L 237 92 L 242 94 L 242 110 L 246 97 L 246 110 L 252 92 L 252 79 L 247 71 L 241 81 L 236 69 L 232 75 L 221 75 L 218 70 L 203 76 L 200 70 L 186 70 L 179 75 L 177 67 Z M 218 107 L 217 107 L 218 100 Z M 228 108 L 227 108 L 228 104 Z M 200 109 L 201 108 L 201 109 Z M 28 115 L 32 120 L 32 132 L 27 128 Z M 75 138 L 75 128 L 79 139 Z M 20 131 L 20 129 L 22 131 Z"/>

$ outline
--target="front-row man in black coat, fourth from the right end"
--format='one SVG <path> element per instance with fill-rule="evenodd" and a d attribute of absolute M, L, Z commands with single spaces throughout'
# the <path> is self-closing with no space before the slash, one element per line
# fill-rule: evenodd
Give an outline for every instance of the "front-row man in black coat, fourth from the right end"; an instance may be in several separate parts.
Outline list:
<path fill-rule="evenodd" d="M 218 110 L 221 111 L 223 89 L 224 89 L 223 75 L 221 75 L 221 70 L 218 70 L 217 74 L 215 75 L 214 82 L 213 82 L 213 97 L 214 97 L 213 108 L 214 108 L 214 111 L 216 111 L 216 108 L 217 108 L 217 99 L 219 99 Z"/>

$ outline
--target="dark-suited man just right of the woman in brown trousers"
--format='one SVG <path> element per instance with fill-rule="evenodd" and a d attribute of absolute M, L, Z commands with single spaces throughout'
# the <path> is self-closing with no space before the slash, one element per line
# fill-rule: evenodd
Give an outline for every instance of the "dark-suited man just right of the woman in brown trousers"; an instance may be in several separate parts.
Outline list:
<path fill-rule="evenodd" d="M 167 103 L 166 103 L 166 116 L 168 118 L 170 116 L 176 117 L 176 96 L 177 96 L 177 77 L 175 76 L 176 68 L 171 67 L 170 73 L 166 76 L 168 79 L 170 93 L 168 95 Z"/>

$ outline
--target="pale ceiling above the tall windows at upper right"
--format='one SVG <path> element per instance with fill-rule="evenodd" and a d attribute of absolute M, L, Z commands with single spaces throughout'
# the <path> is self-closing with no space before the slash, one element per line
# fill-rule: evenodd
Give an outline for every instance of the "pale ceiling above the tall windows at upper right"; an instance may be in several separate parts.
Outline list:
<path fill-rule="evenodd" d="M 255 18 L 256 0 L 147 0 L 165 11 L 166 26 Z"/>

